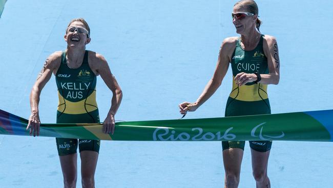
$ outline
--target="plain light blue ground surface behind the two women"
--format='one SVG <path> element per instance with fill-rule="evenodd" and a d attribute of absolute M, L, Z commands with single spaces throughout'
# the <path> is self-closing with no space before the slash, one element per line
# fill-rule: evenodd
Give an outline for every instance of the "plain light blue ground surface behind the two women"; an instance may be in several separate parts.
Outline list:
<path fill-rule="evenodd" d="M 180 118 L 178 104 L 198 98 L 223 39 L 237 35 L 230 16 L 235 3 L 8 1 L 0 19 L 0 109 L 29 117 L 29 93 L 45 59 L 66 49 L 68 23 L 84 17 L 92 38 L 87 49 L 106 57 L 123 90 L 116 119 Z M 257 3 L 260 30 L 277 37 L 280 52 L 280 83 L 268 86 L 272 112 L 331 109 L 333 2 Z M 230 69 L 215 95 L 186 118 L 222 117 L 231 88 Z M 111 97 L 98 78 L 101 120 Z M 55 122 L 57 102 L 53 77 L 41 93 L 42 122 Z M 54 138 L 0 135 L 0 151 L 0 187 L 63 186 Z M 274 142 L 272 187 L 331 187 L 332 154 L 329 142 Z M 96 187 L 221 187 L 221 143 L 102 141 L 95 180 Z M 248 143 L 239 187 L 255 187 Z"/>

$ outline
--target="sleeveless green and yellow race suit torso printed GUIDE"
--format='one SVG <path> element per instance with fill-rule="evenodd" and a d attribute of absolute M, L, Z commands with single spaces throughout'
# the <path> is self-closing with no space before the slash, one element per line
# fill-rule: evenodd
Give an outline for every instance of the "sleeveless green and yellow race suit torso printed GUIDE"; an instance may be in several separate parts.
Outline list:
<path fill-rule="evenodd" d="M 240 38 L 236 42 L 230 62 L 233 70 L 233 88 L 227 101 L 226 116 L 270 114 L 266 84 L 250 82 L 238 86 L 234 80 L 240 72 L 260 74 L 269 72 L 267 57 L 263 51 L 263 37 L 264 35 L 261 35 L 257 47 L 249 51 L 241 47 Z"/>

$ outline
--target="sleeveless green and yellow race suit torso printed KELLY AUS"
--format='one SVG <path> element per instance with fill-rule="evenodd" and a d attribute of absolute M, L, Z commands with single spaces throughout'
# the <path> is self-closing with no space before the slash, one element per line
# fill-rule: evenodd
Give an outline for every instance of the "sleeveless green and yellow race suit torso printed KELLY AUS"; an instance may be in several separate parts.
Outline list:
<path fill-rule="evenodd" d="M 69 68 L 66 51 L 56 73 L 59 103 L 57 123 L 98 123 L 96 75 L 88 64 L 88 51 L 80 67 Z"/>

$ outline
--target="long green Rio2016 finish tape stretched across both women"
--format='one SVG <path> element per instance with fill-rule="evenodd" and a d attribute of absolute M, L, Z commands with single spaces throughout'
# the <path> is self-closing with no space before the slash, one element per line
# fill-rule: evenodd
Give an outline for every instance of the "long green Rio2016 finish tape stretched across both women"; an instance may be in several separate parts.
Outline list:
<path fill-rule="evenodd" d="M 102 124 L 41 124 L 39 136 L 121 141 L 324 141 L 333 136 L 333 110 L 225 118 L 117 122 L 114 135 Z M 0 134 L 29 136 L 28 120 L 0 110 Z"/>

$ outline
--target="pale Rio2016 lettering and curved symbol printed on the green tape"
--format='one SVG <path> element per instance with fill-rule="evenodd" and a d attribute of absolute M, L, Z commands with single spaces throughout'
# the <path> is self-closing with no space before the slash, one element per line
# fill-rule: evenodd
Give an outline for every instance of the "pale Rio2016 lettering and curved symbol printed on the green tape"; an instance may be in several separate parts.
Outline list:
<path fill-rule="evenodd" d="M 284 133 L 281 132 L 281 135 L 279 136 L 269 136 L 269 135 L 263 135 L 263 128 L 264 123 L 260 123 L 256 125 L 251 130 L 251 137 L 256 138 L 255 140 L 272 140 L 272 139 L 278 139 L 283 138 Z M 218 131 L 217 133 L 212 133 L 210 131 L 203 131 L 200 127 L 192 128 L 189 132 L 176 132 L 177 128 L 167 128 L 167 127 L 158 127 L 154 130 L 153 133 L 153 140 L 154 141 L 221 141 L 221 140 L 237 140 L 237 135 L 231 133 L 231 131 L 234 129 L 234 127 L 230 127 L 224 131 L 224 133 L 221 131 Z M 256 135 L 257 130 L 259 130 L 259 134 Z M 171 131 L 170 131 L 171 130 Z M 259 138 L 259 139 L 258 139 Z"/>

